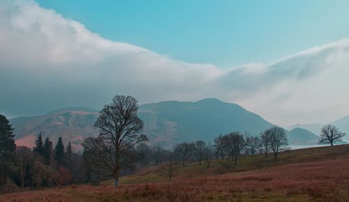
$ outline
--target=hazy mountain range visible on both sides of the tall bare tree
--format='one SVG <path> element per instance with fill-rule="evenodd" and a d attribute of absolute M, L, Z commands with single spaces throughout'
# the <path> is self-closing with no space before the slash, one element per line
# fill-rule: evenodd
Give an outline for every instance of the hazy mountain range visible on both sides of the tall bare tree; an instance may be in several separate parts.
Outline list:
<path fill-rule="evenodd" d="M 259 115 L 245 110 L 235 103 L 218 99 L 203 99 L 197 102 L 163 101 L 140 105 L 139 117 L 144 121 L 144 134 L 152 143 L 173 146 L 189 140 L 213 140 L 219 134 L 230 131 L 248 131 L 258 135 L 260 131 L 274 126 Z M 54 142 L 62 136 L 71 141 L 77 150 L 85 137 L 97 136 L 94 122 L 96 110 L 66 108 L 36 117 L 11 119 L 15 128 L 17 145 L 32 147 L 41 132 Z"/>

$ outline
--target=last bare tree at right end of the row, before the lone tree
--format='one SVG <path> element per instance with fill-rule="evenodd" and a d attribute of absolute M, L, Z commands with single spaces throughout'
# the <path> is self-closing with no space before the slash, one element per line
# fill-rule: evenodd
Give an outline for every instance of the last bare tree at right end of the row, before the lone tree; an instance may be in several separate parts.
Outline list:
<path fill-rule="evenodd" d="M 274 152 L 274 158 L 278 159 L 279 152 L 285 150 L 286 146 L 288 145 L 285 129 L 281 127 L 272 127 L 270 129 L 267 129 L 267 131 L 265 131 L 265 134 L 269 136 L 269 143 Z"/>

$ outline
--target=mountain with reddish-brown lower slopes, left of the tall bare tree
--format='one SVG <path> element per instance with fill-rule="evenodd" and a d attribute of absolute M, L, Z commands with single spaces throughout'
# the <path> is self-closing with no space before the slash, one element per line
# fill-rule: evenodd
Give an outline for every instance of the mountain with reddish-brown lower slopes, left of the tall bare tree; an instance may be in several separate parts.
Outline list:
<path fill-rule="evenodd" d="M 55 110 L 36 117 L 18 117 L 10 120 L 15 129 L 17 145 L 33 147 L 36 136 L 41 132 L 54 143 L 61 136 L 65 143 L 70 141 L 75 150 L 81 150 L 85 137 L 96 136 L 94 122 L 98 117 L 96 110 L 89 108 L 66 108 Z"/>

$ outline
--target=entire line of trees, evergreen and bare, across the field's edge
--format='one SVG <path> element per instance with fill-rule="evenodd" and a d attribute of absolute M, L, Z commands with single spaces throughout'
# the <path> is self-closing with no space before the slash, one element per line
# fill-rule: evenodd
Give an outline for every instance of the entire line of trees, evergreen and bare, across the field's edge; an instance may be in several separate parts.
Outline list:
<path fill-rule="evenodd" d="M 285 129 L 276 126 L 258 136 L 232 131 L 217 136 L 213 143 L 196 140 L 171 148 L 151 145 L 142 134 L 138 101 L 132 96 L 114 96 L 101 110 L 94 127 L 99 135 L 84 140 L 82 154 L 74 153 L 70 142 L 65 147 L 61 137 L 53 146 L 41 134 L 33 148 L 16 147 L 13 128 L 0 115 L 0 192 L 1 185 L 10 181 L 21 187 L 40 187 L 113 178 L 117 187 L 121 175 L 149 165 L 158 166 L 158 173 L 171 180 L 188 162 L 205 162 L 209 167 L 213 159 L 226 159 L 237 165 L 241 156 L 268 157 L 272 153 L 278 159 L 279 152 L 289 149 Z M 327 124 L 322 127 L 319 143 L 333 145 L 345 135 Z"/>

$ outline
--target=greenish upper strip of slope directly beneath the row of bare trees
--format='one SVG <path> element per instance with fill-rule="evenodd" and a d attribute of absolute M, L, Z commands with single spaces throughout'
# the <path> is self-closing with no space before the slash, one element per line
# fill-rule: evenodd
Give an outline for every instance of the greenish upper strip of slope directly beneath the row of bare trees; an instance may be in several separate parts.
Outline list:
<path fill-rule="evenodd" d="M 324 147 L 311 147 L 299 150 L 290 150 L 281 152 L 279 159 L 275 160 L 272 154 L 265 157 L 264 154 L 255 156 L 240 157 L 238 164 L 228 159 L 216 159 L 211 161 L 209 168 L 204 161 L 202 165 L 198 163 L 187 164 L 181 167 L 174 180 L 184 180 L 198 177 L 207 177 L 221 174 L 237 174 L 244 171 L 255 171 L 275 166 L 288 164 L 309 163 L 313 161 L 327 161 L 329 159 L 346 158 L 349 159 L 349 145 L 335 145 Z M 348 164 L 349 166 L 349 164 Z M 158 167 L 153 166 L 140 170 L 134 175 L 124 176 L 120 179 L 123 185 L 147 183 L 147 182 L 164 182 L 168 180 L 165 176 L 158 173 Z M 110 182 L 112 184 L 112 182 Z"/>

